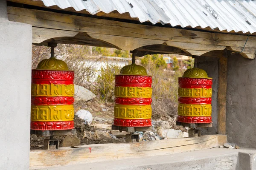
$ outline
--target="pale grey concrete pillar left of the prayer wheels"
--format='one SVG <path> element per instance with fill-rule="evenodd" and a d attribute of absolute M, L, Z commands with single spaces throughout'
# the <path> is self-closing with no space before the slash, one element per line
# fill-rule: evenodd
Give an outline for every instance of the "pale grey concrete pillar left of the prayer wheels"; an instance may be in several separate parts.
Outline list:
<path fill-rule="evenodd" d="M 9 22 L 0 0 L 0 170 L 29 169 L 32 26 Z"/>

